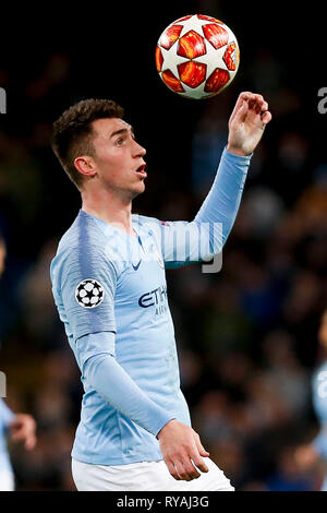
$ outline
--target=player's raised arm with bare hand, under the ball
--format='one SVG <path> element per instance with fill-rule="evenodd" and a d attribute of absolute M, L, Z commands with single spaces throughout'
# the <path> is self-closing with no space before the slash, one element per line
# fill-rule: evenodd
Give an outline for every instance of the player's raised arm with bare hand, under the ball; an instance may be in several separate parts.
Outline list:
<path fill-rule="evenodd" d="M 208 260 L 221 252 L 240 206 L 251 154 L 270 121 L 261 95 L 242 93 L 229 120 L 228 145 L 214 184 L 192 223 L 161 224 L 167 267 Z"/>

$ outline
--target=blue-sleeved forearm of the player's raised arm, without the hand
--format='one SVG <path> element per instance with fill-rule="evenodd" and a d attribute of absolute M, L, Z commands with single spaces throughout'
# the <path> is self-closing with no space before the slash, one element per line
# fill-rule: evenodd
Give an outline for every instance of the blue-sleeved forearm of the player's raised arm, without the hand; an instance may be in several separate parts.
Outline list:
<path fill-rule="evenodd" d="M 221 224 L 221 239 L 211 240 L 213 252 L 222 249 L 234 224 L 241 203 L 251 156 L 222 152 L 214 184 L 196 214 L 196 223 Z M 215 234 L 215 231 L 213 231 Z"/>

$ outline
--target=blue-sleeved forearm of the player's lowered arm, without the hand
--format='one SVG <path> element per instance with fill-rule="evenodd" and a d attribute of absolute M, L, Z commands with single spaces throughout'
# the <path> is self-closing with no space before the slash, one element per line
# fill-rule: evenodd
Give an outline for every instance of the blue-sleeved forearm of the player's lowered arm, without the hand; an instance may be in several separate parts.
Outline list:
<path fill-rule="evenodd" d="M 96 345 L 93 343 L 94 347 Z M 89 356 L 83 365 L 83 374 L 111 406 L 154 436 L 174 418 L 137 386 L 112 354 L 97 353 Z"/>

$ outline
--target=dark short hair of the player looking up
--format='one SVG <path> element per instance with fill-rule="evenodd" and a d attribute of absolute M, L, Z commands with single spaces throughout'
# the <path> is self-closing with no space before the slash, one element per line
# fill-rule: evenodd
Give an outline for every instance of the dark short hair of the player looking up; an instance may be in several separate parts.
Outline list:
<path fill-rule="evenodd" d="M 80 155 L 94 155 L 92 122 L 102 118 L 122 118 L 123 108 L 111 99 L 83 99 L 64 110 L 53 123 L 52 150 L 77 189 L 83 175 L 75 168 Z"/>

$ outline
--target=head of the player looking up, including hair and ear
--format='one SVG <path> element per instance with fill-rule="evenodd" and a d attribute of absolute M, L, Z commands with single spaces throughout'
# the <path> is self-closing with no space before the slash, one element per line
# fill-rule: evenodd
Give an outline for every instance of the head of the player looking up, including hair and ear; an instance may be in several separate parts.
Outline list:
<path fill-rule="evenodd" d="M 86 99 L 53 123 L 53 152 L 81 192 L 90 182 L 131 199 L 143 192 L 145 150 L 123 114 L 112 100 Z"/>

